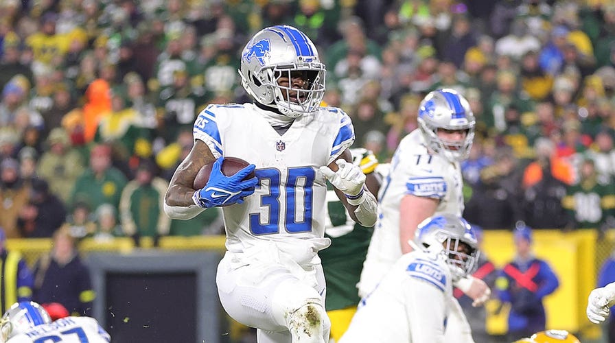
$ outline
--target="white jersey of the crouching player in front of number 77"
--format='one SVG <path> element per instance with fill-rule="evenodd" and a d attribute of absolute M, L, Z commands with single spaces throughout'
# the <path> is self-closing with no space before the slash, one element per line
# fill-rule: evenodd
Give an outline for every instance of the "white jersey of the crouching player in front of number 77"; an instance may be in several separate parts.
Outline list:
<path fill-rule="evenodd" d="M 473 342 L 441 253 L 403 255 L 361 300 L 339 343 L 363 342 Z"/>

